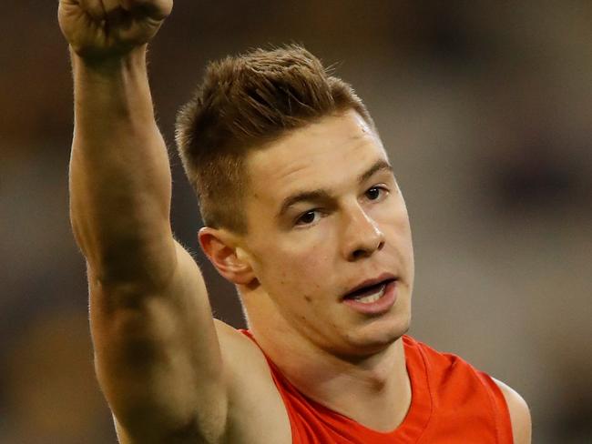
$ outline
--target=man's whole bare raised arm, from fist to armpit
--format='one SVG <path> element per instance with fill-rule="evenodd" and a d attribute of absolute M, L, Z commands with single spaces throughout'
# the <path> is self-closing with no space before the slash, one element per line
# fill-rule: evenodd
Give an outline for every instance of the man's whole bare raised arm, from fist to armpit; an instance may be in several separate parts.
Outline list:
<path fill-rule="evenodd" d="M 146 45 L 171 8 L 59 4 L 75 86 L 71 220 L 87 257 L 97 375 L 122 442 L 209 442 L 226 415 L 206 289 L 170 228 L 168 153 L 148 87 Z"/>

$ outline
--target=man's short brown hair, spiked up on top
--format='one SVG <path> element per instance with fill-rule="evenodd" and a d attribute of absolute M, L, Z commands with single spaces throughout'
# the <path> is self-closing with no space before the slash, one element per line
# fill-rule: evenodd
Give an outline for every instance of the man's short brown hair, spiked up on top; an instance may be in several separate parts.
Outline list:
<path fill-rule="evenodd" d="M 177 118 L 176 139 L 204 224 L 247 230 L 244 159 L 323 116 L 354 109 L 373 127 L 352 86 L 300 45 L 256 49 L 210 63 Z"/>

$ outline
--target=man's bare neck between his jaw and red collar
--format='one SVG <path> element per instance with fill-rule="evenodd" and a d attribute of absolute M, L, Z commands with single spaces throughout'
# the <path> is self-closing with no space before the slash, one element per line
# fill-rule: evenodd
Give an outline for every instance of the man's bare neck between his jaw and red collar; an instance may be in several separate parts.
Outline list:
<path fill-rule="evenodd" d="M 258 298 L 256 307 L 244 302 L 260 347 L 301 393 L 370 429 L 403 422 L 411 404 L 403 338 L 367 356 L 337 356 L 291 328 L 277 309 L 265 309 L 269 299 Z"/>

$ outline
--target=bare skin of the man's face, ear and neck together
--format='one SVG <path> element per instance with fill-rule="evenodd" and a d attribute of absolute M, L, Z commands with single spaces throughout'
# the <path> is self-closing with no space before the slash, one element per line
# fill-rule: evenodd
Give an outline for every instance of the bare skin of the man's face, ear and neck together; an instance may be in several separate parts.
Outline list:
<path fill-rule="evenodd" d="M 250 329 L 299 389 L 374 429 L 394 429 L 411 400 L 400 338 L 411 317 L 413 247 L 380 139 L 348 111 L 250 154 L 247 170 L 248 234 L 203 228 L 204 250 L 237 282 L 209 243 L 216 237 L 234 246 Z M 326 196 L 281 213 L 287 198 L 311 190 Z M 356 285 L 385 273 L 398 278 L 387 313 L 370 317 L 342 303 Z"/>

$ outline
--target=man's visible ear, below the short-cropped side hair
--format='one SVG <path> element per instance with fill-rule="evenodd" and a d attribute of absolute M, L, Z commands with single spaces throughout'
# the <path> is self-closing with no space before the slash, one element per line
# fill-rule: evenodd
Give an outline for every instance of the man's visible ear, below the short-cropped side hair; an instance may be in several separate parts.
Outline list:
<path fill-rule="evenodd" d="M 256 278 L 248 256 L 237 246 L 236 236 L 224 229 L 203 227 L 198 238 L 201 249 L 223 278 L 238 285 L 249 285 Z"/>

